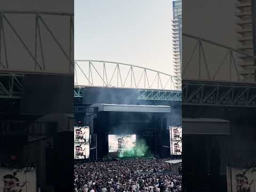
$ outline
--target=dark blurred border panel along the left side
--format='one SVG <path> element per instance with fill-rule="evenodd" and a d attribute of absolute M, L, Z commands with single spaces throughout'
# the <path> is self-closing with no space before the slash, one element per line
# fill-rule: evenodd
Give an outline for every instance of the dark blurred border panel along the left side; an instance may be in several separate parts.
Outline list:
<path fill-rule="evenodd" d="M 74 0 L 0 12 L 1 167 L 34 167 L 41 192 L 73 191 Z"/>

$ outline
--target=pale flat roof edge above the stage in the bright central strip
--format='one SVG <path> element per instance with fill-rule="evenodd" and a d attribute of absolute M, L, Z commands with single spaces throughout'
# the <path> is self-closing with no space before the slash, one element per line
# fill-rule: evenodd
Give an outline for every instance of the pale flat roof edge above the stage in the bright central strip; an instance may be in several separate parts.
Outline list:
<path fill-rule="evenodd" d="M 90 107 L 98 107 L 98 111 L 171 113 L 170 106 L 116 105 L 116 104 L 95 103 Z"/>

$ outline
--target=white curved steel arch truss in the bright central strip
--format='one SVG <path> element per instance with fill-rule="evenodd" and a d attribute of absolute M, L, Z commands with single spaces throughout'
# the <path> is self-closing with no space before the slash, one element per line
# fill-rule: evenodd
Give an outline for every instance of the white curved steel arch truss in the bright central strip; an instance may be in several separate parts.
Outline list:
<path fill-rule="evenodd" d="M 82 64 L 85 64 L 85 66 L 83 66 L 84 68 L 81 67 Z M 110 70 L 107 69 L 109 65 L 114 66 L 115 69 L 113 73 L 110 73 Z M 123 68 L 122 71 L 120 68 L 124 66 L 126 69 Z M 134 72 L 134 70 L 136 71 Z M 136 77 L 135 73 L 139 73 L 139 77 Z M 149 76 L 148 73 L 154 73 L 154 75 Z M 177 90 L 177 87 L 174 85 L 174 81 L 181 81 L 181 79 L 177 77 L 154 69 L 129 65 L 127 63 L 102 60 L 75 60 L 74 76 L 75 86 L 77 87 L 106 86 L 130 87 L 135 89 Z M 108 77 L 111 78 L 109 79 Z M 95 83 L 97 80 L 98 82 Z M 163 83 L 164 80 L 165 84 Z M 126 82 L 130 83 L 126 84 Z M 180 89 L 181 87 L 178 87 L 178 90 Z"/>

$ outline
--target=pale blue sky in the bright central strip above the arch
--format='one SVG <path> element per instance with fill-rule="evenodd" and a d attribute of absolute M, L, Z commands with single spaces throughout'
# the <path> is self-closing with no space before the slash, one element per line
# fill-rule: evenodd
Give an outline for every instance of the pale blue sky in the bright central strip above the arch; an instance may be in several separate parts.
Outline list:
<path fill-rule="evenodd" d="M 172 74 L 171 0 L 75 0 L 75 59 Z"/>

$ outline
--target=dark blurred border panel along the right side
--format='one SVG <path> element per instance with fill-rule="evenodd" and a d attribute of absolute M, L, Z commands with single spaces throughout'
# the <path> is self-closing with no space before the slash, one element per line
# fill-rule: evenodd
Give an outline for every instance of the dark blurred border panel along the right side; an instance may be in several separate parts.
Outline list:
<path fill-rule="evenodd" d="M 255 167 L 255 11 L 182 1 L 183 191 L 234 191 L 227 167 Z"/>

